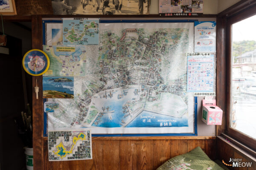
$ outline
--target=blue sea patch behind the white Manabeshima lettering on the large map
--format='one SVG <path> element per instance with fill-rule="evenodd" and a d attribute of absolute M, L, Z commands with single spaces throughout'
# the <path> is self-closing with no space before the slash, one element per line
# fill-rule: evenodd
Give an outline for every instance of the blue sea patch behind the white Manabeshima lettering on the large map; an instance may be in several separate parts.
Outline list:
<path fill-rule="evenodd" d="M 184 126 L 189 126 L 188 119 L 185 116 L 183 116 L 182 118 L 175 118 L 175 117 L 167 116 L 163 114 L 143 111 L 126 127 L 184 127 Z"/>

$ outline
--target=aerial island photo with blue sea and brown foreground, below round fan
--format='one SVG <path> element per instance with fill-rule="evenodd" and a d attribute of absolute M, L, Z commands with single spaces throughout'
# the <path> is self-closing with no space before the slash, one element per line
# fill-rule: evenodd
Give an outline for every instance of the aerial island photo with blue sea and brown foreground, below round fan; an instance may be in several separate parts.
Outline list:
<path fill-rule="evenodd" d="M 74 77 L 43 77 L 44 98 L 74 98 Z"/>

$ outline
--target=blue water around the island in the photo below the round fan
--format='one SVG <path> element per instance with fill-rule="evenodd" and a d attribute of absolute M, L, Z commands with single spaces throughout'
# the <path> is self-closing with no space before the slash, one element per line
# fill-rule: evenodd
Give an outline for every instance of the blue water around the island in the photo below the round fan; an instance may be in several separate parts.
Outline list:
<path fill-rule="evenodd" d="M 58 79 L 63 77 L 43 77 L 43 91 L 60 91 L 67 94 L 74 94 L 74 77 L 65 77 L 71 79 L 72 82 L 54 82 L 50 79 Z"/>

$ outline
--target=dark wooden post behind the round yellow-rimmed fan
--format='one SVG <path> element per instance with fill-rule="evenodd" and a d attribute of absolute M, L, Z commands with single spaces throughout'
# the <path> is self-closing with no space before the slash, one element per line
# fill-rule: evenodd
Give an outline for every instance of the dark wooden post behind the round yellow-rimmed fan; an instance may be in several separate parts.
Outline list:
<path fill-rule="evenodd" d="M 32 48 L 42 48 L 42 17 L 40 15 L 32 16 Z M 44 150 L 43 150 L 43 128 L 44 128 L 44 113 L 43 113 L 43 91 L 42 91 L 42 76 L 32 77 L 32 87 L 39 87 L 38 99 L 34 89 L 32 95 L 32 112 L 33 112 L 33 163 L 35 170 L 44 169 Z"/>

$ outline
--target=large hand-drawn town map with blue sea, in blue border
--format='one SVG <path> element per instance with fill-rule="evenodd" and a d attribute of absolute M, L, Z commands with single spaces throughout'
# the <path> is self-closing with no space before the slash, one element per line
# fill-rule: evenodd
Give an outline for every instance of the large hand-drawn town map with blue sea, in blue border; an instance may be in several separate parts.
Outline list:
<path fill-rule="evenodd" d="M 74 98 L 48 99 L 55 106 L 49 129 L 193 133 L 193 94 L 186 92 L 193 23 L 101 23 L 100 44 L 87 48 Z"/>

